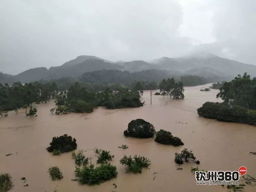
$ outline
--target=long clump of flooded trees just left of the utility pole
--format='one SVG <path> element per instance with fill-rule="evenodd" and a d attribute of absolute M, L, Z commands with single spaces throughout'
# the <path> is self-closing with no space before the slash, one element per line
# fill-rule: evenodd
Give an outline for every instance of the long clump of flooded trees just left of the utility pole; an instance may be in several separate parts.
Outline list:
<path fill-rule="evenodd" d="M 90 113 L 97 106 L 104 106 L 108 109 L 117 109 L 125 107 L 141 107 L 140 94 L 136 90 L 120 88 L 118 91 L 111 91 L 107 88 L 105 91 L 91 91 L 86 87 L 81 87 L 78 82 L 72 85 L 68 92 L 61 92 L 56 97 L 56 114 L 67 112 Z M 54 111 L 52 109 L 52 111 Z"/>

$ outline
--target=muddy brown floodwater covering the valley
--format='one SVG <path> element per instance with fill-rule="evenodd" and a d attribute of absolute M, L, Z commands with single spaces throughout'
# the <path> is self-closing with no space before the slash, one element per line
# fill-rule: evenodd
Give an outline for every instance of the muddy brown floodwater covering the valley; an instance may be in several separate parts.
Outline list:
<path fill-rule="evenodd" d="M 152 96 L 145 91 L 140 108 L 108 110 L 102 107 L 91 114 L 53 115 L 50 109 L 54 102 L 34 105 L 38 117 L 26 117 L 23 110 L 16 115 L 0 118 L 0 172 L 10 173 L 13 180 L 13 192 L 156 192 L 156 191 L 227 191 L 222 186 L 197 186 L 191 167 L 195 163 L 184 163 L 183 170 L 177 170 L 174 153 L 186 147 L 193 150 L 201 161 L 200 169 L 235 171 L 240 166 L 247 168 L 247 174 L 256 177 L 256 156 L 247 152 L 256 151 L 256 129 L 252 125 L 226 123 L 206 119 L 197 115 L 196 109 L 205 101 L 220 101 L 216 98 L 219 90 L 199 91 L 208 85 L 185 87 L 185 99 L 173 100 L 167 96 Z M 153 94 L 155 91 L 153 92 Z M 154 139 L 125 138 L 123 131 L 132 119 L 142 118 L 152 123 L 156 130 L 170 131 L 180 137 L 183 146 L 165 146 Z M 180 123 L 179 123 L 180 122 Z M 77 140 L 77 149 L 108 150 L 115 155 L 112 164 L 117 166 L 117 178 L 96 186 L 79 185 L 75 179 L 75 162 L 71 152 L 53 156 L 47 152 L 52 138 L 63 134 Z M 126 144 L 128 149 L 118 146 Z M 11 156 L 5 156 L 12 153 Z M 151 160 L 150 169 L 141 174 L 125 173 L 125 167 L 119 163 L 122 156 L 135 154 Z M 92 150 L 85 152 L 87 157 L 96 161 Z M 51 181 L 47 171 L 57 165 L 63 173 L 63 180 Z M 26 182 L 21 180 L 26 177 Z M 114 188 L 113 183 L 117 185 Z M 24 186 L 29 184 L 29 186 Z M 255 187 L 246 186 L 243 191 L 255 191 Z"/>

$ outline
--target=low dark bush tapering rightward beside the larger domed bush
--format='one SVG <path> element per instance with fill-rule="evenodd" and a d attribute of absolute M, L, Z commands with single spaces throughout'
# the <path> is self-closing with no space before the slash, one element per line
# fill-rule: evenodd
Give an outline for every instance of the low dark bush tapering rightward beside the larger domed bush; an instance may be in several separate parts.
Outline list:
<path fill-rule="evenodd" d="M 162 129 L 160 129 L 160 131 L 157 131 L 155 141 L 165 145 L 184 145 L 180 138 L 173 137 L 171 132 Z"/>

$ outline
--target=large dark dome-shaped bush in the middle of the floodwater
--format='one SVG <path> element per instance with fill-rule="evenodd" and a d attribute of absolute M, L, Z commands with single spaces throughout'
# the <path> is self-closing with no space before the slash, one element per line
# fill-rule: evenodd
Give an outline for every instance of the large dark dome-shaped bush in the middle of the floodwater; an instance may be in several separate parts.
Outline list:
<path fill-rule="evenodd" d="M 155 135 L 155 127 L 143 119 L 136 119 L 128 124 L 123 134 L 126 137 L 151 138 Z"/>

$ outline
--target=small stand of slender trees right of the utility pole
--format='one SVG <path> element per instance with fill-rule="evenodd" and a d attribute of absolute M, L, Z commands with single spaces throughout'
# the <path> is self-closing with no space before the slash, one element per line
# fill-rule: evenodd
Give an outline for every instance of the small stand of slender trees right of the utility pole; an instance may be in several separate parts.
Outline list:
<path fill-rule="evenodd" d="M 181 81 L 175 82 L 174 78 L 163 79 L 160 82 L 160 94 L 168 95 L 173 99 L 183 99 L 184 98 L 184 85 Z"/>

